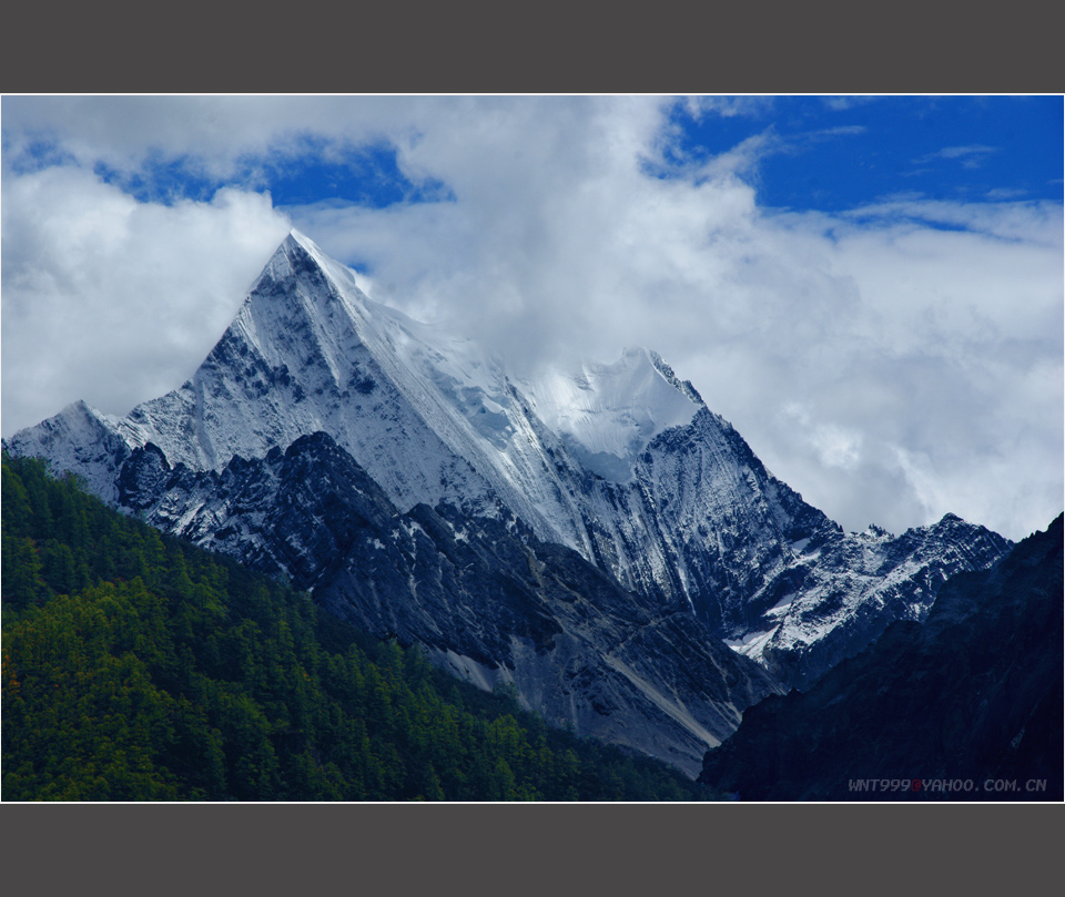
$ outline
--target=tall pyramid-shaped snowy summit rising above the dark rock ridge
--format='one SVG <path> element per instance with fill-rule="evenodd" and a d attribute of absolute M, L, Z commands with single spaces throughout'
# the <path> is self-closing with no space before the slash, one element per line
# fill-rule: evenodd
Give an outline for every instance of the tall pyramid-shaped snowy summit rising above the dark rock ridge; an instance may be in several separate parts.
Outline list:
<path fill-rule="evenodd" d="M 455 475 L 468 468 L 465 455 L 427 420 L 434 397 L 394 348 L 414 345 L 417 327 L 293 231 L 192 379 L 130 420 L 193 469 L 221 470 L 234 455 L 263 457 L 325 431 L 404 509 L 455 492 L 483 499 L 479 477 Z"/>

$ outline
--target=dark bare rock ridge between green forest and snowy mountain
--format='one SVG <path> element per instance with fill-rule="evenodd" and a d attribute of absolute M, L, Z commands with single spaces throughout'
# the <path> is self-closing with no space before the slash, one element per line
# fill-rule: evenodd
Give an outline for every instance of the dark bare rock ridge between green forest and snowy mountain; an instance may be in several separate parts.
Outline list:
<path fill-rule="evenodd" d="M 419 642 L 483 686 L 513 682 L 556 725 L 692 776 L 743 709 L 777 690 L 690 613 L 647 609 L 514 518 L 443 503 L 400 513 L 326 434 L 264 459 L 234 458 L 220 473 L 171 468 L 148 446 L 120 481 L 124 503 L 150 522 L 291 575 L 336 613 Z"/>

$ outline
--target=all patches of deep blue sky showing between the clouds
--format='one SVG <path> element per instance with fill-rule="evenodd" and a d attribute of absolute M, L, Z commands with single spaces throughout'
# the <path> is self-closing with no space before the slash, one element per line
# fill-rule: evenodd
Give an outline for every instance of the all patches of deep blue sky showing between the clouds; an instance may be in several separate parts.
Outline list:
<path fill-rule="evenodd" d="M 1063 195 L 1059 96 L 744 96 L 723 115 L 678 99 L 667 105 L 667 128 L 674 129 L 668 146 L 648 165 L 663 179 L 758 142 L 749 174 L 767 211 L 843 212 L 896 196 L 1061 202 Z M 77 161 L 61 136 L 47 128 L 38 134 L 12 153 L 17 170 Z M 282 208 L 454 200 L 439 181 L 412 181 L 385 139 L 338 151 L 307 135 L 292 153 L 247 154 L 225 176 L 205 173 L 195 153 L 162 149 L 135 170 L 98 161 L 94 172 L 142 202 L 169 204 L 206 201 L 224 186 L 266 190 Z"/>

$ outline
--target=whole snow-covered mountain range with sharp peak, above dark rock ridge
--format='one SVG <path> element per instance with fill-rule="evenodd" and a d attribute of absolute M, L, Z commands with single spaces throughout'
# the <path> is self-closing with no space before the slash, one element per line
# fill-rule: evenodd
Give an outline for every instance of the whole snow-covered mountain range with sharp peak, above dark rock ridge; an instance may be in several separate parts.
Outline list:
<path fill-rule="evenodd" d="M 1008 548 L 956 518 L 899 538 L 848 536 L 655 353 L 511 378 L 474 343 L 371 300 L 295 232 L 187 383 L 124 418 L 70 406 L 9 448 L 74 470 L 163 529 L 195 524 L 207 539 L 206 506 L 123 473 L 134 450 L 152 444 L 170 468 L 220 473 L 314 432 L 398 512 L 443 504 L 516 519 L 646 608 L 692 613 L 785 685 L 899 616 L 922 619 L 943 580 Z"/>

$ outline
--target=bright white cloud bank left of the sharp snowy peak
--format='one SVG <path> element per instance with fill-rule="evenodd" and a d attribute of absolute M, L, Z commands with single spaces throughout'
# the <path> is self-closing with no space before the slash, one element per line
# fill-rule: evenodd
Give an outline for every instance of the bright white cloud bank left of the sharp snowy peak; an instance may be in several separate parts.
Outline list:
<path fill-rule="evenodd" d="M 138 203 L 54 167 L 3 183 L 3 432 L 78 398 L 113 414 L 180 385 L 288 230 L 268 197 Z"/>

